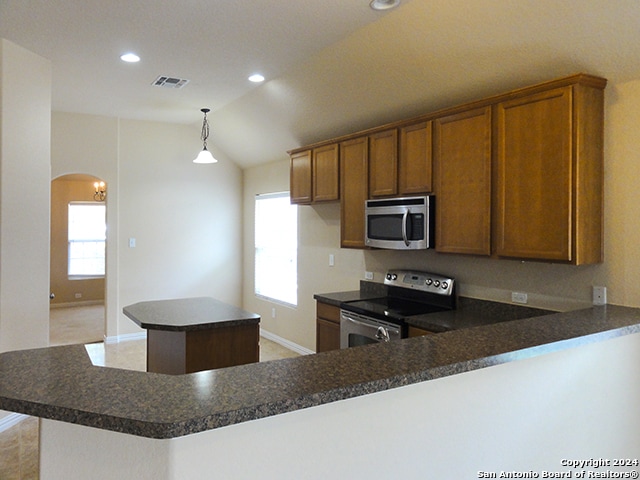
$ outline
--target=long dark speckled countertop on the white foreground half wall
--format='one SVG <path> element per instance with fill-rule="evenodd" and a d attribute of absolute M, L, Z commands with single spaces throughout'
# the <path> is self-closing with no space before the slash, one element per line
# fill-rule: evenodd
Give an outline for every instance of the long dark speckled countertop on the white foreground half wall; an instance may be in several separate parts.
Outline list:
<path fill-rule="evenodd" d="M 187 375 L 94 366 L 83 345 L 0 354 L 0 409 L 174 438 L 640 333 L 640 309 L 592 307 Z"/>

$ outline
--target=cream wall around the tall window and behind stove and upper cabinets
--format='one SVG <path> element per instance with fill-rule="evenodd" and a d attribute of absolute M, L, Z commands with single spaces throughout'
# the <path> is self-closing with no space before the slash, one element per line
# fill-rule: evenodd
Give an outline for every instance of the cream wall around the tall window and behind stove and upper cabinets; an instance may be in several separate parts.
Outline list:
<path fill-rule="evenodd" d="M 340 249 L 338 203 L 301 206 L 299 296 L 295 311 L 278 308 L 271 319 L 269 302 L 253 296 L 253 211 L 255 193 L 288 190 L 288 160 L 246 169 L 244 304 L 263 316 L 263 328 L 315 349 L 314 293 L 356 290 L 365 270 L 381 282 L 389 268 L 411 268 L 453 275 L 463 295 L 510 302 L 511 292 L 528 293 L 529 305 L 555 310 L 588 306 L 592 286 L 606 286 L 609 303 L 640 306 L 640 80 L 610 83 L 605 92 L 605 261 L 568 266 L 542 262 L 492 260 L 434 251 L 363 251 Z M 291 145 L 291 148 L 298 145 Z M 328 266 L 329 254 L 335 267 Z M 281 313 L 282 311 L 282 313 Z"/>

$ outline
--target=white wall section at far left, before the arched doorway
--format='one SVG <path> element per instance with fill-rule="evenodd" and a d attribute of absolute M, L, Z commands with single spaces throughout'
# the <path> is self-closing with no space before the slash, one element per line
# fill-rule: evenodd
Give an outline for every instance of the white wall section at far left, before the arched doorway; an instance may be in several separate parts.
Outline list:
<path fill-rule="evenodd" d="M 51 64 L 0 39 L 0 352 L 49 344 Z"/>

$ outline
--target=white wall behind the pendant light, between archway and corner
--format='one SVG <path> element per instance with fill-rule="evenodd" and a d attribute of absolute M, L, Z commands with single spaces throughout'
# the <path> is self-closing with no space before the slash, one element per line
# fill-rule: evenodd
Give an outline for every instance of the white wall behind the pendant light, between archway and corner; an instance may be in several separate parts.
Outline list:
<path fill-rule="evenodd" d="M 192 163 L 192 126 L 121 120 L 119 139 L 120 305 L 212 296 L 241 306 L 240 169 L 217 152 L 216 164 Z"/>

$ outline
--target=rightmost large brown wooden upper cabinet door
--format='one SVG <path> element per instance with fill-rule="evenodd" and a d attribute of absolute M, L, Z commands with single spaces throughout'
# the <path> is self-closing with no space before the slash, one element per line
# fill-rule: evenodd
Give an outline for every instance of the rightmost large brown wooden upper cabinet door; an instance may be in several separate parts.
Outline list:
<path fill-rule="evenodd" d="M 571 261 L 572 88 L 498 104 L 496 251 Z"/>

